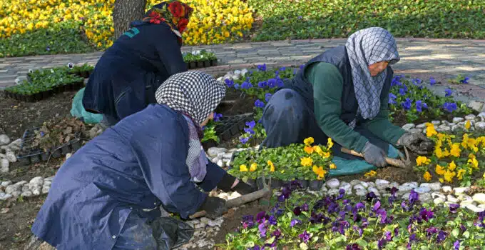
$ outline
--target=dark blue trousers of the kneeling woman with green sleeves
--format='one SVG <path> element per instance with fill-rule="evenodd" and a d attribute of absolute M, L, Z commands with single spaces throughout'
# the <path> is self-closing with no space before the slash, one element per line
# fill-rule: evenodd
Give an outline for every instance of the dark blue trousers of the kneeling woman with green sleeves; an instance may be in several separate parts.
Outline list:
<path fill-rule="evenodd" d="M 307 106 L 305 99 L 292 89 L 281 89 L 272 95 L 262 113 L 262 126 L 266 130 L 267 137 L 262 141 L 261 146 L 268 148 L 303 143 L 307 137 L 313 137 L 315 144 L 327 144 L 328 136 L 318 126 L 315 114 Z M 356 126 L 354 131 L 359 132 L 384 151 L 389 151 L 388 142 L 377 138 L 362 126 Z M 357 156 L 344 154 L 340 149 L 342 146 L 335 142 L 332 147 L 333 156 L 362 160 Z"/>

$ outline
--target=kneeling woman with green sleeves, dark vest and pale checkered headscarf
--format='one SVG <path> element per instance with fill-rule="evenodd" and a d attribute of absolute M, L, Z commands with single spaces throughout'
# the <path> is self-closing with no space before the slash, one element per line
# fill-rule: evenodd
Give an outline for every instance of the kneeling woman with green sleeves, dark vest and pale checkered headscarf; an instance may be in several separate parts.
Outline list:
<path fill-rule="evenodd" d="M 339 174 L 384 166 L 385 156 L 397 156 L 392 145 L 426 154 L 432 149 L 429 139 L 406 133 L 388 119 L 391 65 L 398 61 L 394 37 L 379 27 L 359 30 L 344 46 L 311 59 L 265 106 L 262 146 L 301 143 L 310 136 L 327 144 L 331 138 L 337 142 L 333 152 Z M 367 162 L 343 154 L 342 146 L 361 152 Z"/>

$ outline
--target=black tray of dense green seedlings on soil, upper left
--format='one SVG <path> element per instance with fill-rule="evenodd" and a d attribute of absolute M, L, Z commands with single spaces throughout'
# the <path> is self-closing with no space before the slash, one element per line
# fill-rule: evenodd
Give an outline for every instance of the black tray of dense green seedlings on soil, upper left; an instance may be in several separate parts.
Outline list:
<path fill-rule="evenodd" d="M 40 101 L 63 91 L 81 89 L 84 79 L 67 73 L 67 67 L 35 70 L 28 74 L 29 81 L 5 89 L 7 97 L 19 101 Z"/>

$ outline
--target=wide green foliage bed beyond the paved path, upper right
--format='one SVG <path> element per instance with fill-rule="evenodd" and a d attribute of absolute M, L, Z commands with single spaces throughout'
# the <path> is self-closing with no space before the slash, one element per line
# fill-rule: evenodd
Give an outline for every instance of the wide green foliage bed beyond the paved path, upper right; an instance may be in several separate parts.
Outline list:
<path fill-rule="evenodd" d="M 248 0 L 262 25 L 255 41 L 346 38 L 372 26 L 396 37 L 484 39 L 485 1 Z"/>

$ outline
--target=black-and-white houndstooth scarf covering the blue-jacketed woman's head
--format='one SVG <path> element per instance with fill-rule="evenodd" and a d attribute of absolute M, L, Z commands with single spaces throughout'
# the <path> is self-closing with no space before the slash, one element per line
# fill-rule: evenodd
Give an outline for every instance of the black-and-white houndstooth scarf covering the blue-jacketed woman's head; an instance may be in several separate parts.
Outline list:
<path fill-rule="evenodd" d="M 159 104 L 188 114 L 197 125 L 213 113 L 224 96 L 225 86 L 202 71 L 185 71 L 170 76 L 155 93 Z"/>

